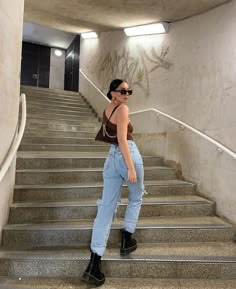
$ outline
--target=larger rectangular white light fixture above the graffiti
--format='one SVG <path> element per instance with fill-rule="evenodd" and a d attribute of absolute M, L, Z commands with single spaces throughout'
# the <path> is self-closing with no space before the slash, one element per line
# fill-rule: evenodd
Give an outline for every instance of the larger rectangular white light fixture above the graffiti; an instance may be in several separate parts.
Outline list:
<path fill-rule="evenodd" d="M 159 22 L 142 26 L 129 27 L 124 29 L 127 36 L 149 35 L 166 33 L 168 31 L 168 23 Z"/>

